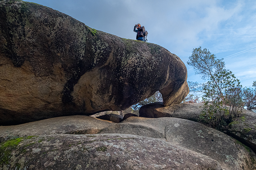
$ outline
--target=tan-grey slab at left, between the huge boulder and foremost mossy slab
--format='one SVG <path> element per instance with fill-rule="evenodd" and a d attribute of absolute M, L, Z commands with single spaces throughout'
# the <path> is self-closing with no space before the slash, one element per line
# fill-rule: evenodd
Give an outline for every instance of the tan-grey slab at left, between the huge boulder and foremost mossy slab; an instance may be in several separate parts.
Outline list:
<path fill-rule="evenodd" d="M 13 126 L 0 126 L 0 142 L 10 138 L 53 135 L 53 134 L 95 134 L 115 124 L 90 116 L 62 116 Z"/>

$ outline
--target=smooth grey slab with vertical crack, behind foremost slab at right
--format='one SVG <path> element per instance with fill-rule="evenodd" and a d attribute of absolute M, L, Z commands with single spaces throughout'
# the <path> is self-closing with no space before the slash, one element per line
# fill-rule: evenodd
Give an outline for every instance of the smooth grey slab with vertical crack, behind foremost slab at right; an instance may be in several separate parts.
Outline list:
<path fill-rule="evenodd" d="M 217 160 L 226 170 L 256 169 L 256 154 L 236 139 L 201 123 L 180 118 L 129 117 L 100 133 L 163 138 L 167 142 Z"/>

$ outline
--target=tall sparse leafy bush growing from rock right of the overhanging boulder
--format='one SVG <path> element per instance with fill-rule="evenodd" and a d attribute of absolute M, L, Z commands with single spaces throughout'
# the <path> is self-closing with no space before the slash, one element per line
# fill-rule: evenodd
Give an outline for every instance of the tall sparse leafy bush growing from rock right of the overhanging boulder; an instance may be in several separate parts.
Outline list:
<path fill-rule="evenodd" d="M 209 50 L 193 49 L 188 65 L 207 82 L 198 84 L 189 82 L 192 92 L 202 92 L 204 106 L 200 121 L 206 122 L 216 129 L 223 128 L 233 122 L 240 114 L 242 102 L 242 86 L 231 71 L 225 69 L 223 59 L 216 59 Z"/>

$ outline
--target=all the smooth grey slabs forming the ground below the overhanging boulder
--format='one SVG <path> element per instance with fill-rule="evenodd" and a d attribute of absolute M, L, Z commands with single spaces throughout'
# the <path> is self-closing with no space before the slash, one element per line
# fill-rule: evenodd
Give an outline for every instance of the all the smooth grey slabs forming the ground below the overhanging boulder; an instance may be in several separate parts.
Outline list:
<path fill-rule="evenodd" d="M 111 123 L 65 116 L 0 126 L 0 137 L 0 169 L 256 168 L 249 147 L 216 129 L 172 117 L 133 116 Z"/>

